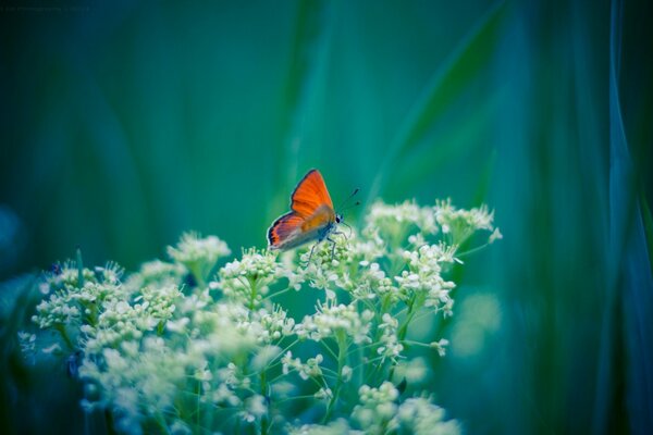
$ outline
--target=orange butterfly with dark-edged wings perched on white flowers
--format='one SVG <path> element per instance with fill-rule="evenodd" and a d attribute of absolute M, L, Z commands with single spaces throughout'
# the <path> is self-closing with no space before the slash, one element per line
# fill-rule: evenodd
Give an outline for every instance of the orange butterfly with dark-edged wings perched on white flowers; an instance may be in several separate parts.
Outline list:
<path fill-rule="evenodd" d="M 281 250 L 312 240 L 320 243 L 326 239 L 334 244 L 329 236 L 336 233 L 336 225 L 342 221 L 343 216 L 333 210 L 322 174 L 318 170 L 310 170 L 291 196 L 291 211 L 274 221 L 268 229 L 268 244 L 270 249 Z"/>

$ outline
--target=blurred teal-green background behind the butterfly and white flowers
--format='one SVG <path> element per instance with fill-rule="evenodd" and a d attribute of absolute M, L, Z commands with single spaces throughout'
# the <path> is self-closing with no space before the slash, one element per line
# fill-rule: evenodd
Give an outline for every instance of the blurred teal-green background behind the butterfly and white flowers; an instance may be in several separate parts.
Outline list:
<path fill-rule="evenodd" d="M 183 231 L 266 245 L 334 201 L 486 202 L 433 394 L 468 433 L 653 432 L 653 8 L 623 1 L 0 1 L 2 433 L 82 432 L 28 368 L 21 276 Z M 93 427 L 91 427 L 93 430 Z"/>

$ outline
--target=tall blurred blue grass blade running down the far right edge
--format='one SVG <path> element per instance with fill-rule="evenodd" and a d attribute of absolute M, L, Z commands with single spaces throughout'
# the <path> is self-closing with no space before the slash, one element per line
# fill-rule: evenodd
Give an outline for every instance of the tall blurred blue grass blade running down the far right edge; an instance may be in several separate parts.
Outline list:
<path fill-rule="evenodd" d="M 653 276 L 646 252 L 644 226 L 640 206 L 634 195 L 633 164 L 624 127 L 619 95 L 619 62 L 621 57 L 621 14 L 620 1 L 612 3 L 611 27 L 611 70 L 609 70 L 609 215 L 611 252 L 615 268 L 611 279 L 612 289 L 607 295 L 602 356 L 616 358 L 618 346 L 609 343 L 609 330 L 624 331 L 626 346 L 626 401 L 628 424 L 632 433 L 653 432 Z M 624 323 L 619 324 L 609 315 L 611 307 L 623 301 Z M 606 349 L 608 349 L 606 351 Z M 611 351 L 612 350 L 612 351 Z M 619 406 L 615 394 L 617 386 L 611 378 L 618 378 L 617 364 L 601 361 L 599 372 L 599 395 L 595 409 L 594 430 L 623 427 L 611 411 Z M 606 377 L 608 376 L 608 377 Z M 603 430 L 602 430 L 603 428 Z"/>

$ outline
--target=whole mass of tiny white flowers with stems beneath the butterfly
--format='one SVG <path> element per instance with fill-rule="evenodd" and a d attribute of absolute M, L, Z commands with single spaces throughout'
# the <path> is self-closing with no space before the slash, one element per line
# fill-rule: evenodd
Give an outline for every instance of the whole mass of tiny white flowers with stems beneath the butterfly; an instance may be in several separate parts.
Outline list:
<path fill-rule="evenodd" d="M 459 244 L 476 231 L 501 238 L 492 221 L 486 207 L 377 202 L 360 233 L 244 250 L 212 276 L 230 250 L 194 233 L 124 283 L 114 263 L 67 262 L 47 275 L 33 318 L 61 338 L 41 346 L 23 331 L 20 343 L 74 363 L 84 407 L 109 410 L 120 433 L 457 434 L 424 395 L 402 399 L 395 385 L 406 380 L 406 396 L 426 386 L 432 358 L 416 346 L 445 355 L 441 331 L 426 343 L 407 332 L 420 314 L 452 313 L 445 277 Z M 309 303 L 283 304 L 300 289 L 294 299 Z"/>

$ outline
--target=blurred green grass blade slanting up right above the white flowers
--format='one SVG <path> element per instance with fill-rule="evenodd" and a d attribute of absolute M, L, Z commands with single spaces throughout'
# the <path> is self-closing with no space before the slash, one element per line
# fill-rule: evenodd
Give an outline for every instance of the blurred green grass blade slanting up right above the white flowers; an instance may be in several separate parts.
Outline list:
<path fill-rule="evenodd" d="M 449 108 L 482 71 L 485 71 L 493 59 L 506 9 L 505 2 L 493 7 L 448 61 L 432 76 L 390 145 L 369 190 L 368 203 L 383 190 L 390 165 L 396 164 L 397 157 L 419 144 L 434 120 Z"/>

